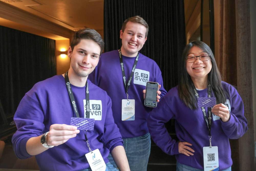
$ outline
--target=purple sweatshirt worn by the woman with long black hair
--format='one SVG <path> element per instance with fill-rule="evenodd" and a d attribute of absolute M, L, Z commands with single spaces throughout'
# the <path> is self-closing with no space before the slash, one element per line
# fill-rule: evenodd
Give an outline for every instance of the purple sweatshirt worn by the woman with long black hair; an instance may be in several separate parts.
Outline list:
<path fill-rule="evenodd" d="M 222 87 L 228 94 L 226 103 L 230 111 L 230 119 L 223 122 L 213 120 L 211 125 L 212 146 L 218 146 L 219 169 L 227 169 L 232 165 L 229 139 L 237 139 L 247 131 L 247 120 L 244 117 L 244 105 L 237 90 L 222 81 Z M 179 98 L 178 86 L 172 88 L 163 97 L 158 106 L 148 117 L 148 129 L 151 137 L 165 153 L 176 156 L 178 162 L 204 169 L 203 147 L 209 146 L 208 128 L 201 108 L 191 110 Z M 207 97 L 207 89 L 198 90 L 199 97 Z M 212 97 L 214 95 L 212 94 Z M 189 142 L 195 152 L 193 156 L 186 156 L 178 152 L 178 142 L 173 140 L 167 132 L 164 123 L 175 119 L 175 130 L 178 139 Z"/>

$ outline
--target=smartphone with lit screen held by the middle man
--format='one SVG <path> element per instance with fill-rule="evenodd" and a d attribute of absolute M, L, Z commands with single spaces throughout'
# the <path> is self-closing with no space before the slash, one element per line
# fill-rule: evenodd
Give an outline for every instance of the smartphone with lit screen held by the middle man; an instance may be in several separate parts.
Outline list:
<path fill-rule="evenodd" d="M 157 82 L 147 82 L 146 84 L 146 98 L 144 100 L 144 105 L 148 107 L 156 107 L 157 105 Z"/>

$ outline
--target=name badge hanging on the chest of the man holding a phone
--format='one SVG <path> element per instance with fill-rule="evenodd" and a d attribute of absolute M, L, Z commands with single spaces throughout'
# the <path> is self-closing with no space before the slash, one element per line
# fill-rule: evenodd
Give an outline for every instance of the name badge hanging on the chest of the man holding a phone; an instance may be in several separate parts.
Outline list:
<path fill-rule="evenodd" d="M 135 120 L 135 100 L 122 100 L 122 121 Z"/>

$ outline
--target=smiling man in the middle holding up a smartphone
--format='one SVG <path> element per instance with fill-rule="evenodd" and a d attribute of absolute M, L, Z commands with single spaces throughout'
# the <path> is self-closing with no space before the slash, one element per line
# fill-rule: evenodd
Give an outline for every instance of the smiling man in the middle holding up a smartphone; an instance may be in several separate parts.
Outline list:
<path fill-rule="evenodd" d="M 163 78 L 156 62 L 138 52 L 147 40 L 147 33 L 148 25 L 142 17 L 126 19 L 120 30 L 120 50 L 103 53 L 88 77 L 112 100 L 114 121 L 122 135 L 132 171 L 146 171 L 150 155 L 151 140 L 146 120 L 151 108 L 144 106 L 143 100 L 146 82 L 159 83 L 158 99 L 167 93 L 160 86 Z M 109 159 L 114 164 L 111 155 Z"/>

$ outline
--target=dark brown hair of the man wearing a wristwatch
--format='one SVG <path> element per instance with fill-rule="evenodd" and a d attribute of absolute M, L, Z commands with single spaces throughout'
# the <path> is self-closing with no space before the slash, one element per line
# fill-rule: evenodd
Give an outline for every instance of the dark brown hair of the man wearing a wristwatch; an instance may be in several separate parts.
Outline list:
<path fill-rule="evenodd" d="M 75 32 L 70 45 L 72 51 L 74 47 L 80 43 L 81 39 L 93 40 L 100 46 L 100 54 L 102 53 L 104 48 L 104 41 L 102 40 L 101 35 L 96 30 L 86 28 Z"/>

